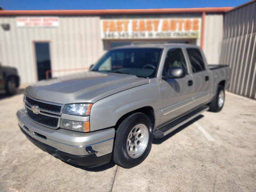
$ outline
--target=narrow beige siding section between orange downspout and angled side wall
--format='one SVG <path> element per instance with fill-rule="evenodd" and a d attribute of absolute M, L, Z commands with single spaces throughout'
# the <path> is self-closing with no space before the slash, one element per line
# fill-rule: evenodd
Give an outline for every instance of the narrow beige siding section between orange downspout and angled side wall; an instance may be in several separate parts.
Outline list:
<path fill-rule="evenodd" d="M 223 15 L 206 14 L 204 31 L 204 54 L 211 64 L 219 64 L 223 35 Z"/>

